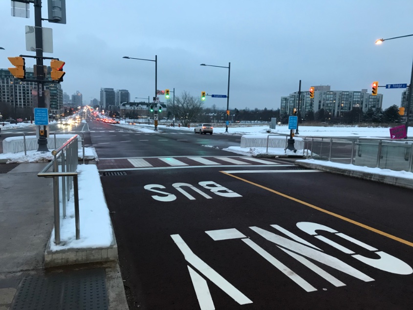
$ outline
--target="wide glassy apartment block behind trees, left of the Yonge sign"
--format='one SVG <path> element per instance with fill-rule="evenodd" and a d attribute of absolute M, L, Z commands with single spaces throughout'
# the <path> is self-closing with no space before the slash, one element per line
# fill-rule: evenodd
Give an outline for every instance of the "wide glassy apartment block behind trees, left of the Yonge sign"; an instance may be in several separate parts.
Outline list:
<path fill-rule="evenodd" d="M 369 109 L 381 109 L 383 94 L 373 96 L 367 89 L 353 90 L 330 90 L 330 86 L 315 86 L 314 98 L 310 98 L 309 91 L 302 91 L 300 95 L 300 114 L 305 115 L 309 111 L 314 113 L 324 109 L 330 117 L 340 117 L 353 108 L 360 108 L 363 112 Z M 281 97 L 281 114 L 293 114 L 294 108 L 298 107 L 298 91 L 289 96 Z"/>

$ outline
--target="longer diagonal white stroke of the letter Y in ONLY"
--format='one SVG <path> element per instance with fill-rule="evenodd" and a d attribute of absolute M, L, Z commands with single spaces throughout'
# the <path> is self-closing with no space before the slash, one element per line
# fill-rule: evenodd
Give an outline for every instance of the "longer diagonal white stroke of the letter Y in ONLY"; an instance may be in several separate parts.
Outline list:
<path fill-rule="evenodd" d="M 234 299 L 239 305 L 252 304 L 252 301 L 242 294 L 236 287 L 225 280 L 217 271 L 208 266 L 204 261 L 202 261 L 195 253 L 189 248 L 189 246 L 183 241 L 179 235 L 171 235 L 174 243 L 181 250 L 185 257 L 185 260 L 194 266 L 200 273 L 202 273 L 206 278 L 211 280 L 218 288 L 222 289 L 227 293 L 232 299 Z M 199 301 L 199 300 L 198 300 Z M 201 309 L 203 309 L 201 307 Z"/>

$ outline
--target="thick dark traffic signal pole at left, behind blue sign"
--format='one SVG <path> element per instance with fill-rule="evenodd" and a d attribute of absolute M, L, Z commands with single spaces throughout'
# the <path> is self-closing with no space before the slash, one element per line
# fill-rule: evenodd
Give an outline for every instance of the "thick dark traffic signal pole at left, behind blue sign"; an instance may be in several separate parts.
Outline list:
<path fill-rule="evenodd" d="M 42 33 L 42 0 L 34 0 L 34 25 L 36 40 L 36 80 L 37 80 L 37 102 L 39 108 L 46 108 L 44 104 L 44 70 L 43 70 L 43 33 Z M 48 115 L 47 115 L 48 117 Z M 47 130 L 48 126 L 39 126 L 38 152 L 48 152 L 47 149 Z"/>

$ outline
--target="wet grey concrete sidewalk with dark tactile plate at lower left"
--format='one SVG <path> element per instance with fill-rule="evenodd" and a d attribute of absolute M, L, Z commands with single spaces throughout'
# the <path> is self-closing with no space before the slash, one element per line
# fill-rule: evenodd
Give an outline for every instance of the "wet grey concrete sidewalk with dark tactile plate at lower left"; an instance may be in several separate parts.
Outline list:
<path fill-rule="evenodd" d="M 0 310 L 128 309 L 117 261 L 44 268 L 53 184 L 37 174 L 46 164 L 0 164 Z"/>

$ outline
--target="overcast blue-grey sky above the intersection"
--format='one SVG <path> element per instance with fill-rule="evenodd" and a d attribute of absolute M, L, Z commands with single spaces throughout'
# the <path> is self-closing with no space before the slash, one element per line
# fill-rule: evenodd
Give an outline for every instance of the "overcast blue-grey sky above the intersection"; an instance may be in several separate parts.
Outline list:
<path fill-rule="evenodd" d="M 413 36 L 374 42 L 413 34 L 412 12 L 412 0 L 66 0 L 66 24 L 43 21 L 53 28 L 54 47 L 44 56 L 66 62 L 62 89 L 79 90 L 84 104 L 99 99 L 101 87 L 152 100 L 154 62 L 122 57 L 157 55 L 158 89 L 226 94 L 228 69 L 199 65 L 231 62 L 230 109 L 278 109 L 300 79 L 302 90 L 409 84 Z M 47 0 L 42 14 L 47 18 Z M 33 5 L 23 19 L 2 0 L 0 21 L 0 67 L 7 68 L 7 57 L 34 54 L 25 51 L 24 35 L 24 26 L 34 25 Z M 379 88 L 383 109 L 399 106 L 401 92 Z M 205 106 L 213 104 L 226 108 L 226 99 L 207 97 Z"/>

